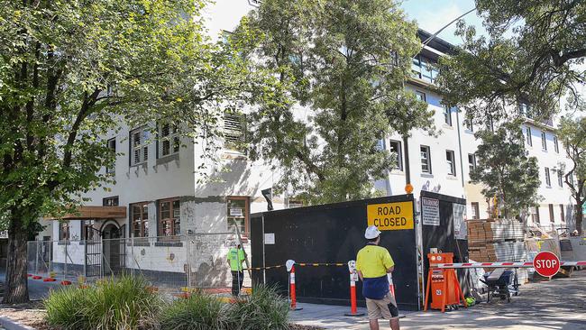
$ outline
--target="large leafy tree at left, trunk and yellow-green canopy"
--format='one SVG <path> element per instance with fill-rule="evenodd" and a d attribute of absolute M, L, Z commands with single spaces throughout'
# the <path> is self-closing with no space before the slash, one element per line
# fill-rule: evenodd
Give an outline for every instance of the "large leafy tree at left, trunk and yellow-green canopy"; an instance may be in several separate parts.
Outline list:
<path fill-rule="evenodd" d="M 75 211 L 111 182 L 101 136 L 169 120 L 212 138 L 250 78 L 211 42 L 204 0 L 0 0 L 0 219 L 9 247 L 4 302 L 28 299 L 26 240 L 41 215 Z M 223 108 L 218 105 L 222 104 Z"/>

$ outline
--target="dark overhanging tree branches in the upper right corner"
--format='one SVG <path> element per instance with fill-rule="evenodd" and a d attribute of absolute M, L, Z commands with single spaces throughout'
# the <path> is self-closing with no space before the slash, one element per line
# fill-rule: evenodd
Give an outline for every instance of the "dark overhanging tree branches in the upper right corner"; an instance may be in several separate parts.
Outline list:
<path fill-rule="evenodd" d="M 459 23 L 463 44 L 440 60 L 436 79 L 444 102 L 475 121 L 506 119 L 520 103 L 548 119 L 586 75 L 586 3 L 580 0 L 476 0 L 490 37 Z M 490 115 L 487 118 L 487 115 Z M 513 116 L 516 112 L 513 113 Z"/>

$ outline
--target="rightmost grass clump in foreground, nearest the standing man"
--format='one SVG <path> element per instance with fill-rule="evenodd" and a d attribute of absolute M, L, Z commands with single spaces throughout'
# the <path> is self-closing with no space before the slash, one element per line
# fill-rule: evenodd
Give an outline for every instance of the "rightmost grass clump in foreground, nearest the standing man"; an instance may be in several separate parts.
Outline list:
<path fill-rule="evenodd" d="M 228 309 L 230 328 L 238 330 L 288 329 L 288 300 L 275 287 L 258 286 L 249 297 L 238 298 Z"/>

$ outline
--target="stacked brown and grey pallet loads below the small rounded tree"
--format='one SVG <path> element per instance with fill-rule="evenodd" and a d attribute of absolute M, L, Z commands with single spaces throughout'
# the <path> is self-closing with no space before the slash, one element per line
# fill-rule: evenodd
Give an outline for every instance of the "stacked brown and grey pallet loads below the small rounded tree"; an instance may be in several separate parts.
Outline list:
<path fill-rule="evenodd" d="M 516 220 L 469 220 L 469 259 L 480 262 L 527 261 L 523 224 Z M 490 271 L 490 269 L 486 269 Z M 527 269 L 517 269 L 519 283 L 528 281 Z"/>

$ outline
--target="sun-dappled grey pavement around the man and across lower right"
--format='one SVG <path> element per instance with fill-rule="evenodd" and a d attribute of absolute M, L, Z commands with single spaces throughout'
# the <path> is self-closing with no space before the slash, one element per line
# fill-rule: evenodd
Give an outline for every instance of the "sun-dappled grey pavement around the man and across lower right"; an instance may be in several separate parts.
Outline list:
<path fill-rule="evenodd" d="M 343 316 L 350 307 L 299 304 L 302 310 L 291 312 L 299 325 L 325 329 L 369 329 L 366 316 Z M 359 312 L 366 313 L 365 308 Z M 507 329 L 507 330 L 586 330 L 586 270 L 574 271 L 572 278 L 529 283 L 520 295 L 506 300 L 481 303 L 470 308 L 446 312 L 405 312 L 401 330 L 426 329 Z M 381 329 L 389 323 L 380 321 Z"/>

